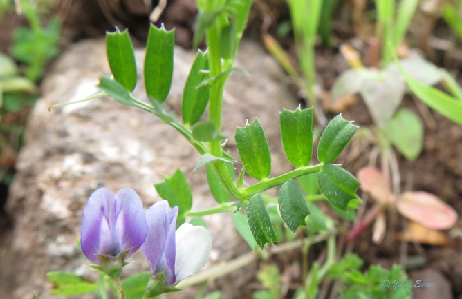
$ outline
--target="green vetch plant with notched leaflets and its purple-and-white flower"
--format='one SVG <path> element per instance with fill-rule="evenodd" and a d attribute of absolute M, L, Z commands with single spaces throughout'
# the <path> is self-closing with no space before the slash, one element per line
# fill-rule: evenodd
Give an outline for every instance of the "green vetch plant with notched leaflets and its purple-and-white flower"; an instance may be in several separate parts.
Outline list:
<path fill-rule="evenodd" d="M 100 77 L 98 87 L 102 93 L 89 99 L 107 95 L 120 104 L 142 108 L 175 128 L 201 154 L 193 173 L 202 166 L 206 167 L 207 182 L 217 203 L 210 209 L 191 211 L 192 190 L 187 177 L 179 169 L 172 176 L 165 176 L 163 182 L 154 184 L 160 197 L 167 200 L 172 210 L 168 209 L 167 202 L 160 202 L 146 212 L 147 237 L 141 249 L 149 260 L 151 273 L 140 273 L 121 282 L 118 292 L 120 298 L 127 296 L 132 299 L 147 299 L 178 291 L 175 286 L 180 280 L 201 269 L 210 252 L 211 240 L 206 229 L 192 226 L 192 223 L 200 223 L 197 219 L 203 215 L 234 212 L 234 222 L 243 237 L 252 244 L 252 248 L 264 249 L 267 243 L 279 242 L 273 222 L 278 225 L 284 223 L 293 232 L 299 226 L 313 224 L 312 231 L 315 233 L 315 224 L 319 224 L 321 228 L 322 221 L 315 221 L 314 218 L 319 220 L 322 213 L 317 213 L 317 208 L 308 204 L 300 186 L 295 182 L 297 177 L 314 175 L 313 178 L 322 191 L 322 198 L 328 200 L 333 209 L 354 217 L 354 209 L 360 202 L 355 193 L 359 182 L 334 163 L 358 127 L 341 115 L 334 117 L 326 126 L 316 151 L 319 163 L 311 165 L 311 157 L 315 152 L 313 108 L 297 108 L 295 111 L 284 109 L 279 117 L 281 142 L 294 169 L 276 177 L 270 176 L 270 148 L 258 119 L 237 127 L 234 139 L 243 168 L 237 178 L 234 177 L 235 160 L 223 150 L 226 139 L 222 135 L 223 88 L 230 73 L 238 70 L 233 64 L 250 4 L 251 1 L 248 0 L 198 1 L 199 14 L 194 41 L 198 43 L 205 35 L 208 48 L 205 52 L 198 51 L 187 77 L 181 120 L 163 108 L 172 84 L 174 31 L 154 25 L 149 29 L 144 61 L 145 91 L 149 103 L 136 99 L 131 94 L 138 77 L 128 32 L 116 30 L 107 34 L 107 57 L 113 77 Z M 57 104 L 54 107 L 62 105 Z M 207 107 L 208 119 L 203 119 Z M 246 184 L 246 173 L 257 182 Z M 276 186 L 281 186 L 279 197 L 270 203 L 263 193 Z M 231 198 L 234 200 L 230 201 Z M 272 216 L 268 211 L 271 211 Z M 313 220 L 308 216 L 311 213 Z M 188 221 L 190 223 L 185 223 Z M 335 260 L 333 226 L 333 222 L 324 225 L 327 233 L 320 240 L 328 239 L 329 259 L 320 269 L 320 274 L 313 276 L 316 279 L 325 276 Z M 176 227 L 178 229 L 175 231 Z M 308 251 L 310 240 L 304 240 L 304 246 L 305 244 Z M 119 249 L 127 250 L 124 247 Z M 120 254 L 118 251 L 114 252 Z M 243 263 L 239 264 L 239 267 L 243 267 Z M 308 267 L 307 262 L 304 264 Z M 236 266 L 230 262 L 228 267 L 221 268 L 223 269 L 219 270 L 219 275 L 236 269 Z M 207 277 L 216 277 L 214 269 L 210 269 L 208 273 L 210 276 Z M 317 282 L 318 280 L 313 280 L 314 284 Z M 108 284 L 102 278 L 101 289 Z M 143 291 L 135 291 L 136 289 Z"/>

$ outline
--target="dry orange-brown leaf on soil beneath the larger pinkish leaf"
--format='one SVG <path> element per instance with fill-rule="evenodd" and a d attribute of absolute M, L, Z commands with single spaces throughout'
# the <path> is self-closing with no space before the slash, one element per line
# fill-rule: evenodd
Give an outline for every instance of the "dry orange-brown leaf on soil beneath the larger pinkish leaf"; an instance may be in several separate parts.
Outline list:
<path fill-rule="evenodd" d="M 434 246 L 446 246 L 450 244 L 450 240 L 444 233 L 435 229 L 428 229 L 417 222 L 411 222 L 405 233 L 398 235 L 398 240 L 403 240 L 403 238 L 407 242 L 419 242 Z"/>

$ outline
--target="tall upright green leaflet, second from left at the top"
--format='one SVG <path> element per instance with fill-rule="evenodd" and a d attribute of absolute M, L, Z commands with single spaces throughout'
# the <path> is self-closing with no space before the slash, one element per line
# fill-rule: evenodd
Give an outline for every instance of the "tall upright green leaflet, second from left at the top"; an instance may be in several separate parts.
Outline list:
<path fill-rule="evenodd" d="M 145 86 L 149 101 L 162 103 L 169 95 L 173 77 L 174 30 L 151 24 L 145 57 Z"/>

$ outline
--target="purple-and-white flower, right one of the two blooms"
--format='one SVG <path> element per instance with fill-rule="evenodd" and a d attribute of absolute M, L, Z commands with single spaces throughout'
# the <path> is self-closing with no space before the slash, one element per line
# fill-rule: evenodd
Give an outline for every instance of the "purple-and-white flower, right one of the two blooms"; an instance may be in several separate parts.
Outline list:
<path fill-rule="evenodd" d="M 167 200 L 151 206 L 146 211 L 148 231 L 141 246 L 151 272 L 164 272 L 168 286 L 204 267 L 212 248 L 210 233 L 201 226 L 183 224 L 175 231 L 177 216 L 178 206 L 169 210 Z"/>

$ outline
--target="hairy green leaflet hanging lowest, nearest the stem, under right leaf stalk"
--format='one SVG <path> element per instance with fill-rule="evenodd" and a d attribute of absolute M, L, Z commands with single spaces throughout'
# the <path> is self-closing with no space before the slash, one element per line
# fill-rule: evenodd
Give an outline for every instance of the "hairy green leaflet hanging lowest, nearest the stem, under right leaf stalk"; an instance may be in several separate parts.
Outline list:
<path fill-rule="evenodd" d="M 250 231 L 260 248 L 263 249 L 266 243 L 277 242 L 275 228 L 260 193 L 250 197 L 246 212 Z"/>

